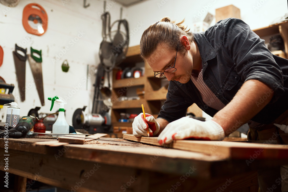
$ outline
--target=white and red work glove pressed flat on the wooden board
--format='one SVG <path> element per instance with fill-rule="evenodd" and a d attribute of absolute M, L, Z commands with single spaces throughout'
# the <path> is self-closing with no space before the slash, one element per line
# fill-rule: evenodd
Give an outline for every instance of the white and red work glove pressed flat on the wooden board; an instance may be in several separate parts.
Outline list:
<path fill-rule="evenodd" d="M 173 140 L 195 138 L 200 140 L 223 140 L 223 128 L 215 121 L 199 121 L 190 117 L 182 117 L 168 123 L 158 137 L 160 145 L 166 145 Z"/>

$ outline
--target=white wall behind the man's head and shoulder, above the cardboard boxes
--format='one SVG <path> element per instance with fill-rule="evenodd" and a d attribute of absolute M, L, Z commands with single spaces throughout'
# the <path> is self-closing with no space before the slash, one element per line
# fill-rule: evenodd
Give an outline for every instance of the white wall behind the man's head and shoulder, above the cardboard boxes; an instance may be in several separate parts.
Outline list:
<path fill-rule="evenodd" d="M 268 26 L 288 12 L 287 0 L 147 0 L 127 8 L 130 46 L 139 45 L 143 31 L 163 17 L 168 16 L 178 22 L 185 18 L 189 28 L 193 22 L 204 20 L 207 12 L 215 15 L 215 9 L 231 4 L 240 9 L 241 19 L 251 29 Z"/>

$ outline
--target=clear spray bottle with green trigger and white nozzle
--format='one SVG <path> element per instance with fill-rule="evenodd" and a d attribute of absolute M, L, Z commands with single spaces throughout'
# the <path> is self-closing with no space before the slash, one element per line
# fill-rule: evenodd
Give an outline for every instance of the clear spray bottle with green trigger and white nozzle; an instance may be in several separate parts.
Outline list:
<path fill-rule="evenodd" d="M 48 98 L 48 100 L 52 101 L 50 111 L 53 108 L 54 102 L 60 105 L 58 117 L 52 126 L 52 133 L 69 134 L 69 124 L 65 119 L 65 113 L 64 113 L 65 111 L 64 104 L 67 104 L 67 102 L 63 98 L 58 96 Z"/>

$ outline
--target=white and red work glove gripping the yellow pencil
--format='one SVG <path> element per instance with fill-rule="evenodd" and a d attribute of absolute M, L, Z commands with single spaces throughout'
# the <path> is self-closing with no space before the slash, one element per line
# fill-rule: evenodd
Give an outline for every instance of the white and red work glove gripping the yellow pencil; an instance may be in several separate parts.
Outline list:
<path fill-rule="evenodd" d="M 135 137 L 148 136 L 147 129 L 149 130 L 149 136 L 155 136 L 159 130 L 160 125 L 156 119 L 147 113 L 145 113 L 146 118 L 144 119 L 143 113 L 140 113 L 134 118 L 132 123 L 133 135 Z"/>

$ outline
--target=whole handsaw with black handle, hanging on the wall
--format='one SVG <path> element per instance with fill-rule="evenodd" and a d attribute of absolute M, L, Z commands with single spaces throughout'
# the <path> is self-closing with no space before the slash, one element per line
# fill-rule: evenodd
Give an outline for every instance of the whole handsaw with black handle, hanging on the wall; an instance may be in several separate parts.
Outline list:
<path fill-rule="evenodd" d="M 13 51 L 12 53 L 18 82 L 18 89 L 20 93 L 20 99 L 23 102 L 25 100 L 25 74 L 26 74 L 27 48 L 24 49 L 15 44 L 15 51 Z"/>

